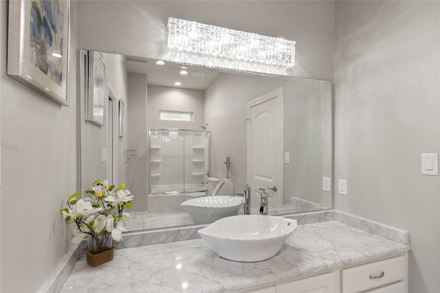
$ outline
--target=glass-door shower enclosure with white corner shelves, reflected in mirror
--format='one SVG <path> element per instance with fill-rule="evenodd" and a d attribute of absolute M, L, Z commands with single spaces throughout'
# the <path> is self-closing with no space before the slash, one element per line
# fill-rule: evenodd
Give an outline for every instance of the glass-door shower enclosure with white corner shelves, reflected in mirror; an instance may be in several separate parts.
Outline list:
<path fill-rule="evenodd" d="M 149 194 L 207 190 L 209 131 L 150 129 L 148 143 Z"/>

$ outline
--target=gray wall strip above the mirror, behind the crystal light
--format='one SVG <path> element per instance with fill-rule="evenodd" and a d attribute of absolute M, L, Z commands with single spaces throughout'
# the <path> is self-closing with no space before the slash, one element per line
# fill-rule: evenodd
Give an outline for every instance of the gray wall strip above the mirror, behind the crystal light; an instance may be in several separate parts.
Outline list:
<path fill-rule="evenodd" d="M 168 58 L 166 23 L 173 16 L 296 40 L 289 74 L 333 79 L 333 1 L 78 1 L 78 15 L 81 49 Z"/>

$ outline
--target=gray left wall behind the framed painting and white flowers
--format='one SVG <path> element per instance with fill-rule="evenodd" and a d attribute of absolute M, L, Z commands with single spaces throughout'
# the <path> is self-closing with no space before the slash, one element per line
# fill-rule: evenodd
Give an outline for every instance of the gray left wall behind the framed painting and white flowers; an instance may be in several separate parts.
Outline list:
<path fill-rule="evenodd" d="M 36 292 L 67 253 L 60 210 L 77 188 L 76 2 L 71 5 L 69 107 L 6 75 L 8 1 L 0 1 L 1 292 Z"/>

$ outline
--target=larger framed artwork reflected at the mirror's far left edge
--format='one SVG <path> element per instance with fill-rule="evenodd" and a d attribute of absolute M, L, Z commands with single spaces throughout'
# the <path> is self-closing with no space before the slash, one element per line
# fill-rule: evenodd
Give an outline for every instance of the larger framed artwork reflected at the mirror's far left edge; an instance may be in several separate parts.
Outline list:
<path fill-rule="evenodd" d="M 89 51 L 88 60 L 86 119 L 98 124 L 98 126 L 104 126 L 104 102 L 107 94 L 105 65 L 102 55 L 97 51 Z"/>

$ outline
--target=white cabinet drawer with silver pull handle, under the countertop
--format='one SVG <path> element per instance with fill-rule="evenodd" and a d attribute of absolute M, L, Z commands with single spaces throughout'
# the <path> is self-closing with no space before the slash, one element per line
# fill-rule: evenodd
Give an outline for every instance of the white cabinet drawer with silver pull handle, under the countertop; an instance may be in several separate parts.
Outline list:
<path fill-rule="evenodd" d="M 405 279 L 405 257 L 393 257 L 342 270 L 342 292 L 362 292 Z"/>

